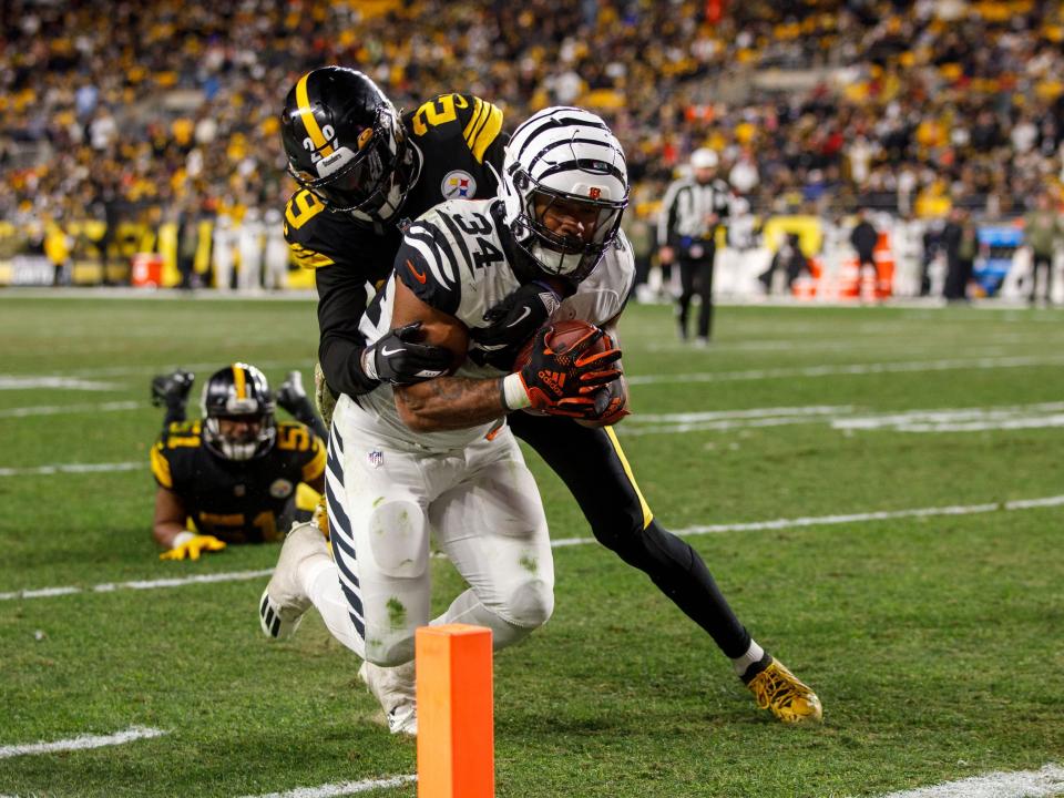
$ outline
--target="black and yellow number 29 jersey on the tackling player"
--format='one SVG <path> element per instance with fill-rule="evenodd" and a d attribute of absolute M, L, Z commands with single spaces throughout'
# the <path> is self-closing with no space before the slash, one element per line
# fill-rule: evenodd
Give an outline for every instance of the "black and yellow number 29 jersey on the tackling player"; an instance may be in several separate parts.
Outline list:
<path fill-rule="evenodd" d="M 364 393 L 377 382 L 358 362 L 364 339 L 358 320 L 391 272 L 402 231 L 446 200 L 494 196 L 508 136 L 502 111 L 471 94 L 441 94 L 402 114 L 420 161 L 417 181 L 392 225 L 369 225 L 328 211 L 309 191 L 296 192 L 285 211 L 293 258 L 316 269 L 318 359 L 329 387 Z"/>

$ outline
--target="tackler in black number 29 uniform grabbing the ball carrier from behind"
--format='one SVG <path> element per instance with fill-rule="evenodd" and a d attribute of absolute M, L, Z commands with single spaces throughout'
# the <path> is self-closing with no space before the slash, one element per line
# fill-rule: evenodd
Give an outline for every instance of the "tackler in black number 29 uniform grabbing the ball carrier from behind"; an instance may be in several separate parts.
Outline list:
<path fill-rule="evenodd" d="M 296 258 L 317 268 L 319 358 L 328 388 L 352 397 L 381 381 L 410 382 L 447 367 L 448 356 L 401 340 L 408 335 L 401 330 L 367 344 L 358 319 L 367 289 L 371 294 L 391 268 L 409 219 L 443 200 L 492 196 L 502 167 L 502 114 L 478 98 L 442 95 L 392 120 L 391 103 L 369 79 L 331 66 L 300 78 L 282 116 L 290 171 L 303 186 L 288 204 L 286 235 Z M 368 164 L 356 170 L 352 153 L 344 156 L 346 167 L 319 168 L 335 155 L 334 140 L 361 141 L 358 153 Z M 358 184 L 355 172 L 367 182 Z M 487 311 L 488 327 L 471 330 L 479 357 L 509 366 L 569 290 L 545 278 L 522 284 Z M 330 391 L 323 396 L 328 400 Z M 612 430 L 528 413 L 513 413 L 508 423 L 564 480 L 595 538 L 713 636 L 759 706 L 785 723 L 819 719 L 812 690 L 751 640 L 702 557 L 654 518 Z"/>

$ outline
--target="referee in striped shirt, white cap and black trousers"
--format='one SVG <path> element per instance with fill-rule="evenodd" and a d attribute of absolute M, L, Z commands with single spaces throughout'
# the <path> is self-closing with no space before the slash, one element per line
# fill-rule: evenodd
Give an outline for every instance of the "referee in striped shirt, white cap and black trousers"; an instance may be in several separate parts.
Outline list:
<path fill-rule="evenodd" d="M 695 344 L 709 342 L 713 326 L 713 260 L 717 254 L 714 236 L 720 219 L 728 215 L 732 190 L 717 177 L 717 153 L 705 147 L 690 155 L 690 177 L 674 181 L 662 202 L 657 239 L 663 242 L 663 265 L 679 263 L 682 293 L 678 299 L 679 338 L 687 340 L 687 316 L 697 290 L 702 300 Z"/>

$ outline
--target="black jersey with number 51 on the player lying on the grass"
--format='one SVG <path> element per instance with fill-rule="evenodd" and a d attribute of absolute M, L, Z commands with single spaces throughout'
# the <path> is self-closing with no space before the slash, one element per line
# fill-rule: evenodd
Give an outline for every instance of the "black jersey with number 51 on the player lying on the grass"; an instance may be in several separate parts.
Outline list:
<path fill-rule="evenodd" d="M 300 482 L 325 471 L 325 446 L 295 421 L 277 422 L 277 442 L 253 460 L 226 460 L 207 449 L 201 422 L 178 421 L 152 447 L 152 473 L 172 490 L 204 534 L 227 543 L 279 540 L 277 519 Z"/>

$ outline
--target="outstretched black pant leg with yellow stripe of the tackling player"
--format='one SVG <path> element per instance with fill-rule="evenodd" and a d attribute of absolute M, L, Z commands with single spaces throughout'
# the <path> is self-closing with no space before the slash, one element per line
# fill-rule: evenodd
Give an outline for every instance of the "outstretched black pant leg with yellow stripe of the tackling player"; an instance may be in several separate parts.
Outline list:
<path fill-rule="evenodd" d="M 565 418 L 514 412 L 508 422 L 562 478 L 600 543 L 646 573 L 726 656 L 746 654 L 750 634 L 698 553 L 644 510 L 615 438 Z"/>

